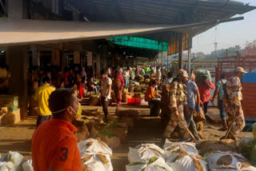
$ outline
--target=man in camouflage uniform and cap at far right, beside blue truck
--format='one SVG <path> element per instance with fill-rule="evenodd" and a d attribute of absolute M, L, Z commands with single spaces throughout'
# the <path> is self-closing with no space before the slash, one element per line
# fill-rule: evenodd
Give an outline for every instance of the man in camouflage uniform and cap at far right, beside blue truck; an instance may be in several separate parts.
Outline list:
<path fill-rule="evenodd" d="M 236 140 L 236 135 L 245 127 L 245 117 L 242 112 L 242 84 L 241 79 L 246 71 L 238 67 L 234 71 L 234 77 L 229 78 L 224 85 L 224 106 L 226 109 L 227 122 L 230 126 L 232 121 L 234 125 L 230 129 L 227 138 Z M 235 120 L 234 120 L 235 119 Z M 222 137 L 221 139 L 223 139 Z"/>

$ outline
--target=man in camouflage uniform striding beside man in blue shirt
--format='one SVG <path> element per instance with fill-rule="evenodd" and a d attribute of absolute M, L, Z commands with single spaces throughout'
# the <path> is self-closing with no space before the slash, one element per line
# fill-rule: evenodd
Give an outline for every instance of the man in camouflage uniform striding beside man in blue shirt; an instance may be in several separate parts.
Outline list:
<path fill-rule="evenodd" d="M 186 129 L 180 122 L 182 121 L 183 124 L 187 126 L 184 113 L 183 113 L 184 105 L 187 105 L 186 90 L 185 90 L 186 87 L 185 85 L 182 84 L 184 78 L 188 78 L 188 74 L 186 73 L 186 70 L 179 70 L 177 78 L 178 78 L 178 81 L 174 81 L 170 84 L 169 104 L 168 104 L 170 113 L 167 113 L 167 115 L 170 116 L 169 117 L 170 119 L 166 126 L 166 130 L 163 133 L 161 146 L 164 145 L 166 138 L 170 137 L 170 134 L 174 132 L 174 129 L 177 126 L 180 129 L 182 136 L 184 137 L 185 140 L 189 140 L 190 138 L 189 133 L 186 132 Z"/>

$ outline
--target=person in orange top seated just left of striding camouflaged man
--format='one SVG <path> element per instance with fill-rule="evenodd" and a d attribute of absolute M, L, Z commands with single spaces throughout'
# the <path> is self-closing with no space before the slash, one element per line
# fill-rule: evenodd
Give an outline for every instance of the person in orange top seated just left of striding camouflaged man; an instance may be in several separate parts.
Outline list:
<path fill-rule="evenodd" d="M 160 100 L 158 99 L 160 95 L 155 93 L 154 89 L 158 85 L 157 80 L 150 82 L 150 86 L 146 89 L 145 100 L 149 102 L 150 106 L 150 116 L 158 116 L 160 110 Z"/>

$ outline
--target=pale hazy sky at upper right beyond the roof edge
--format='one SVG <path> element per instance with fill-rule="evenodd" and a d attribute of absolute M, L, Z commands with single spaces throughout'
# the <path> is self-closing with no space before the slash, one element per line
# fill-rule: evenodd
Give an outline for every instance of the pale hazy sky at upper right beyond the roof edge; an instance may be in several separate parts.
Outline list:
<path fill-rule="evenodd" d="M 238 2 L 250 2 L 250 6 L 256 6 L 256 0 L 237 0 Z M 243 16 L 245 19 L 237 22 L 226 22 L 217 26 L 217 42 L 218 49 L 226 49 L 230 46 L 239 45 L 244 48 L 246 42 L 256 40 L 256 10 Z M 199 34 L 193 38 L 192 51 L 210 54 L 214 51 L 215 27 L 207 30 L 205 33 Z"/>

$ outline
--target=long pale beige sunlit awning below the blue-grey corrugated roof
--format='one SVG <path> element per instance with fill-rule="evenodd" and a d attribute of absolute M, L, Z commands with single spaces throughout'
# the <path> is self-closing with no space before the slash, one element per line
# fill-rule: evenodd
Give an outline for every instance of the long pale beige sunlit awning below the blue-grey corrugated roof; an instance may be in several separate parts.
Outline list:
<path fill-rule="evenodd" d="M 170 31 L 205 30 L 218 22 L 201 22 L 188 25 L 142 24 L 122 22 L 62 22 L 38 20 L 0 19 L 0 46 L 27 45 L 51 42 L 72 42 L 139 35 L 163 40 Z M 191 32 L 193 33 L 193 32 Z"/>

